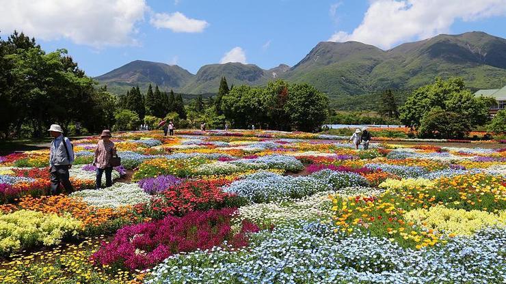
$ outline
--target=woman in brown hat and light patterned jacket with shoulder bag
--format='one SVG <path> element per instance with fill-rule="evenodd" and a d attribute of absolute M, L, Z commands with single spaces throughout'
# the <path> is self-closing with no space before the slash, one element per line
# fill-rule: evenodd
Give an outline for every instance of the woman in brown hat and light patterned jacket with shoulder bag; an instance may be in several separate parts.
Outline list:
<path fill-rule="evenodd" d="M 96 189 L 102 186 L 102 174 L 105 171 L 105 186 L 112 186 L 112 167 L 111 158 L 116 155 L 116 147 L 111 141 L 111 131 L 103 130 L 100 136 L 101 140 L 96 144 L 95 158 L 93 165 L 96 167 Z"/>

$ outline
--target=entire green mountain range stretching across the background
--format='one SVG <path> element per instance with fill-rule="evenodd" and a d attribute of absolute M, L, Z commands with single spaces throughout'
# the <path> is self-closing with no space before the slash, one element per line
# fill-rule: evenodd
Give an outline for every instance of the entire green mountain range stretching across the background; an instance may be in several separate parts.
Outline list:
<path fill-rule="evenodd" d="M 216 93 L 219 80 L 228 85 L 265 85 L 269 80 L 310 83 L 332 98 L 370 94 L 382 89 L 412 89 L 436 76 L 462 76 L 473 89 L 506 83 L 506 40 L 472 31 L 436 35 L 384 51 L 362 42 L 320 42 L 295 66 L 268 70 L 254 64 L 202 66 L 197 74 L 165 63 L 135 60 L 95 79 L 117 94 L 151 83 L 183 94 Z"/>

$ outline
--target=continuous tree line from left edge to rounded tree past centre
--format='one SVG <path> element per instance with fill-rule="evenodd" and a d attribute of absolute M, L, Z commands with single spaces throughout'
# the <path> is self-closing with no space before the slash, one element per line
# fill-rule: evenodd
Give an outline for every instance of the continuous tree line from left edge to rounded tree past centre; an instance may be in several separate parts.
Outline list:
<path fill-rule="evenodd" d="M 14 31 L 0 38 L 0 139 L 44 137 L 50 124 L 66 133 L 105 128 L 150 128 L 172 119 L 178 128 L 271 128 L 317 130 L 328 115 L 328 98 L 308 84 L 270 82 L 265 87 L 230 86 L 223 77 L 215 97 L 187 104 L 182 94 L 150 85 L 112 94 L 79 68 L 65 49 L 46 53 L 34 38 Z"/>

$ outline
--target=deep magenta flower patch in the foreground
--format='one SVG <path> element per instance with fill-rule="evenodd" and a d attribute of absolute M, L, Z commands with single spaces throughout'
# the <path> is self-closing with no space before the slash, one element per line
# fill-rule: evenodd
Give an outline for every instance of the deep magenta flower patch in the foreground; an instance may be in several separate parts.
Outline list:
<path fill-rule="evenodd" d="M 258 231 L 258 227 L 243 223 L 239 233 L 233 233 L 230 218 L 234 211 L 192 212 L 181 218 L 168 216 L 160 221 L 124 227 L 114 240 L 103 244 L 93 259 L 102 265 L 142 269 L 174 253 L 209 249 L 224 241 L 236 248 L 246 246 L 246 233 Z"/>

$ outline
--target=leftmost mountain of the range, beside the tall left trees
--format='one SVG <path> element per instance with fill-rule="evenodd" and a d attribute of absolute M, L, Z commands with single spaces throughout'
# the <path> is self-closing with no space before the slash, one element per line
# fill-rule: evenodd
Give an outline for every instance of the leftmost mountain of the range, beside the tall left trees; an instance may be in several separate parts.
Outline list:
<path fill-rule="evenodd" d="M 150 83 L 158 85 L 165 91 L 178 90 L 187 85 L 194 76 L 176 65 L 135 60 L 95 79 L 101 84 L 106 84 L 107 89 L 123 94 L 136 85 L 147 89 Z"/>

